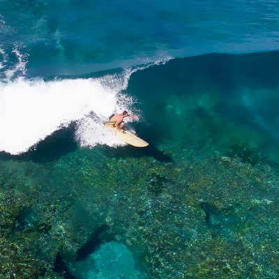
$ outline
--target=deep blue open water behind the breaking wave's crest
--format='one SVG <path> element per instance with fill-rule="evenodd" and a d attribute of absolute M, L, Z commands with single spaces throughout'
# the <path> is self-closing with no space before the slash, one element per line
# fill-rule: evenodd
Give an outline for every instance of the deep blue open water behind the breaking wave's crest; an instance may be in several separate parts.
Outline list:
<path fill-rule="evenodd" d="M 277 1 L 1 1 L 1 49 L 31 76 L 166 57 L 277 50 Z M 9 65 L 9 66 L 8 66 Z"/>

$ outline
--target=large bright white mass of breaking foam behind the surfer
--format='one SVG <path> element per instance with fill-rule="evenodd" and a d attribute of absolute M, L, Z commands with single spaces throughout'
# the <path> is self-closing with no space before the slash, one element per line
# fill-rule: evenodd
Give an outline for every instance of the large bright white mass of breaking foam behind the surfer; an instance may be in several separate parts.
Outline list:
<path fill-rule="evenodd" d="M 82 146 L 119 145 L 103 122 L 113 112 L 130 110 L 133 99 L 121 93 L 127 78 L 125 73 L 99 79 L 44 82 L 21 78 L 1 83 L 0 150 L 27 151 L 71 121 L 78 121 L 77 140 Z"/>

